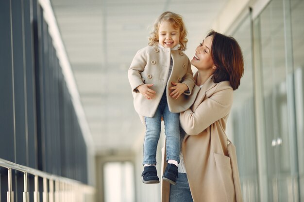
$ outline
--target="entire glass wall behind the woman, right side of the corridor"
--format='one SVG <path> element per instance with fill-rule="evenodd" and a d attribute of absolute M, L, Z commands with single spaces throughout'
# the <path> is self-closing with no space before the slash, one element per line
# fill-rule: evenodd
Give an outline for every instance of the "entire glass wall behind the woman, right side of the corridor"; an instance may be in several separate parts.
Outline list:
<path fill-rule="evenodd" d="M 303 10 L 271 0 L 233 33 L 245 60 L 232 110 L 244 201 L 304 201 Z"/>

